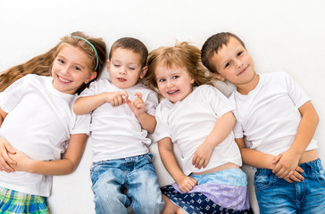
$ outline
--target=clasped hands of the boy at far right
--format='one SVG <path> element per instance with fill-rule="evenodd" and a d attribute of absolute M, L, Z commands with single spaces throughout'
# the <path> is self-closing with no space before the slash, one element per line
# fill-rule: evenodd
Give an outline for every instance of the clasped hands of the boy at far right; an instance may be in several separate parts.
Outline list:
<path fill-rule="evenodd" d="M 301 175 L 299 172 L 301 172 L 303 169 L 298 168 L 299 159 L 299 156 L 294 155 L 289 150 L 287 152 L 280 153 L 272 161 L 273 164 L 276 164 L 275 168 L 272 170 L 272 173 L 274 173 L 279 178 L 284 178 L 285 180 L 288 180 L 291 177 L 294 180 L 296 178 L 300 179 L 299 177 Z"/>

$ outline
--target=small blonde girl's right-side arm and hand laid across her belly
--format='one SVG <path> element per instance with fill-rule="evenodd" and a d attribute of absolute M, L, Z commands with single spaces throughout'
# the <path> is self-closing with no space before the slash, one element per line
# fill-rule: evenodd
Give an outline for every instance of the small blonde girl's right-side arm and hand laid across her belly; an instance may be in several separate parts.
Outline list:
<path fill-rule="evenodd" d="M 231 111 L 225 113 L 217 120 L 211 134 L 206 137 L 204 143 L 198 146 L 194 154 L 192 164 L 195 165 L 196 168 L 201 169 L 208 165 L 214 147 L 229 136 L 231 129 L 235 125 L 235 121 L 236 119 Z"/>

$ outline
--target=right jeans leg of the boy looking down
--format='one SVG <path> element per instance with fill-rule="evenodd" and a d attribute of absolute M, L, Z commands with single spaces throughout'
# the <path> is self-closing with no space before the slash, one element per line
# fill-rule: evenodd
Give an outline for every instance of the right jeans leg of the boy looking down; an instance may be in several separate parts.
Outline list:
<path fill-rule="evenodd" d="M 159 214 L 164 202 L 154 170 L 153 155 L 148 153 L 127 158 L 128 196 L 132 201 L 132 209 L 141 214 Z"/>

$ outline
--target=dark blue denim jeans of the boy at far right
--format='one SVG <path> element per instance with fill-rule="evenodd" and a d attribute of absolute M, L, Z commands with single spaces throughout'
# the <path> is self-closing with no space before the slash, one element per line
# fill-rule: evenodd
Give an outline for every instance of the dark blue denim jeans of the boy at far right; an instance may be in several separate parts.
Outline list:
<path fill-rule="evenodd" d="M 255 192 L 261 214 L 325 213 L 325 171 L 321 160 L 299 165 L 304 181 L 288 183 L 270 169 L 257 169 Z"/>

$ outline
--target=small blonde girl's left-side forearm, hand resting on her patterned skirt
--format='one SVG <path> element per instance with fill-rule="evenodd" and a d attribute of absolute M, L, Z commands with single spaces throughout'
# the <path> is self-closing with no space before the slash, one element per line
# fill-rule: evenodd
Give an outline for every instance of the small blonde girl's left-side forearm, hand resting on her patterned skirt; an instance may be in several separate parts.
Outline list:
<path fill-rule="evenodd" d="M 179 190 L 184 193 L 191 191 L 197 183 L 196 179 L 185 176 L 184 173 L 179 169 L 179 164 L 175 158 L 171 138 L 165 137 L 158 141 L 158 149 L 164 167 L 179 185 Z"/>

